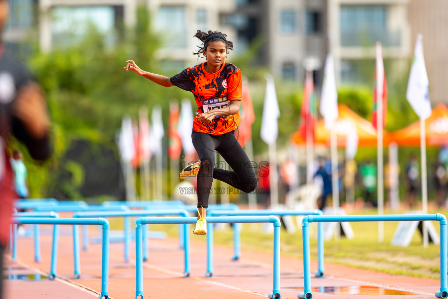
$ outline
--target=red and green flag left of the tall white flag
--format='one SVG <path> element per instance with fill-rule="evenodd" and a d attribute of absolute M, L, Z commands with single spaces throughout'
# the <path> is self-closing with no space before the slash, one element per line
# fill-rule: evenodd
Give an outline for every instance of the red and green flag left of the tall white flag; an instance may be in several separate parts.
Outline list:
<path fill-rule="evenodd" d="M 314 127 L 317 122 L 316 93 L 314 92 L 314 82 L 311 72 L 307 71 L 305 75 L 305 84 L 303 87 L 302 111 L 299 133 L 303 139 L 310 138 L 314 140 Z"/>

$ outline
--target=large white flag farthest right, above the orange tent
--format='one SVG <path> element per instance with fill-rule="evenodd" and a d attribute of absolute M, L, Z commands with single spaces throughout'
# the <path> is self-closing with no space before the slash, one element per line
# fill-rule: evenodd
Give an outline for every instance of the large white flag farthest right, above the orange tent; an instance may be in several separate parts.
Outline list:
<path fill-rule="evenodd" d="M 409 74 L 406 99 L 421 119 L 428 118 L 432 113 L 428 85 L 428 74 L 426 73 L 425 58 L 423 57 L 422 35 L 419 34 L 415 43 L 414 61 Z"/>

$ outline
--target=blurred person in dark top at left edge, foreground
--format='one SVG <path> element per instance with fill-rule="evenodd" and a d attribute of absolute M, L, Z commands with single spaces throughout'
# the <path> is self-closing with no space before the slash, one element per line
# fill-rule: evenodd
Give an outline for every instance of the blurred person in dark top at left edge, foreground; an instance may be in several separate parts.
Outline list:
<path fill-rule="evenodd" d="M 0 0 L 0 32 L 8 21 L 9 2 Z M 13 171 L 9 163 L 11 136 L 26 145 L 30 156 L 50 156 L 49 121 L 42 88 L 25 66 L 5 53 L 0 43 L 0 298 L 3 282 L 3 252 L 8 244 L 13 199 Z"/>

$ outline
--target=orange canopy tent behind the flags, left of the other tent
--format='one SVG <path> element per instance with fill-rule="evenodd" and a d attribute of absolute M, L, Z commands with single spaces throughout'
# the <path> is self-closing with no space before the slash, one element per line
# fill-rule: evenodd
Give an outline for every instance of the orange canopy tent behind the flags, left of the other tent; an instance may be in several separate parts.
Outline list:
<path fill-rule="evenodd" d="M 359 147 L 375 147 L 376 146 L 376 129 L 370 121 L 360 117 L 344 104 L 338 105 L 339 118 L 335 122 L 335 131 L 337 138 L 337 146 L 345 147 L 345 139 L 349 134 L 350 128 L 356 127 L 358 132 Z M 297 145 L 305 145 L 306 141 L 299 132 L 294 132 L 290 138 L 290 142 Z M 391 142 L 390 134 L 387 131 L 383 133 L 383 144 L 387 146 Z M 330 131 L 325 129 L 324 120 L 318 121 L 314 131 L 314 143 L 330 146 Z"/>

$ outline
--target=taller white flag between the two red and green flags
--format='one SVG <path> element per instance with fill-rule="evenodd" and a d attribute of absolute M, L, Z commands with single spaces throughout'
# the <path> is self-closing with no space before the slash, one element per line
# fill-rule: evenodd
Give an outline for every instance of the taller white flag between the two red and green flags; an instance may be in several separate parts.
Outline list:
<path fill-rule="evenodd" d="M 335 68 L 333 57 L 330 54 L 327 55 L 327 61 L 325 62 L 319 112 L 325 119 L 325 128 L 331 130 L 339 117 L 339 111 L 337 108 Z"/>

